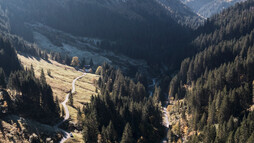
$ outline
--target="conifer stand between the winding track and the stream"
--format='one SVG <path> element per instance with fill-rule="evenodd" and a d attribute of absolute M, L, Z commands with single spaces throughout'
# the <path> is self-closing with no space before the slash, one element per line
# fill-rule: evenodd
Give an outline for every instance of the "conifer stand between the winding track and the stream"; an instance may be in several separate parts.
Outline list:
<path fill-rule="evenodd" d="M 124 77 L 108 64 L 99 74 L 99 95 L 78 113 L 84 141 L 160 142 L 164 135 L 160 92 L 149 96 L 140 81 Z"/>

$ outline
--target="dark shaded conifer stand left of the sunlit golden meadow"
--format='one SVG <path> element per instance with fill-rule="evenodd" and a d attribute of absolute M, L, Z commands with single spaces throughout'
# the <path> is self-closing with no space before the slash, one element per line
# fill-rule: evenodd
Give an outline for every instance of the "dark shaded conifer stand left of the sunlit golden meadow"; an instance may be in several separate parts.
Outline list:
<path fill-rule="evenodd" d="M 32 65 L 31 69 L 23 69 L 13 45 L 15 43 L 8 37 L 0 38 L 0 88 L 3 93 L 0 114 L 17 114 L 43 123 L 54 123 L 60 118 L 60 108 L 53 99 L 44 71 L 38 79 Z M 15 92 L 9 95 L 7 89 Z"/>

